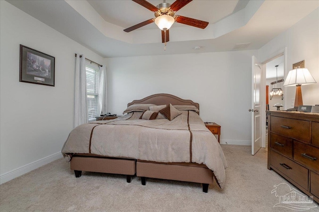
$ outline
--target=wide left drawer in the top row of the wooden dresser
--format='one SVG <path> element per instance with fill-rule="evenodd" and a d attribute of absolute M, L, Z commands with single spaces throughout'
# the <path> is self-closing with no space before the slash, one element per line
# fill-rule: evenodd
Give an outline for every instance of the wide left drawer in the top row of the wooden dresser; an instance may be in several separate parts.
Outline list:
<path fill-rule="evenodd" d="M 288 119 L 277 116 L 271 117 L 271 131 L 301 141 L 310 142 L 310 122 Z"/>

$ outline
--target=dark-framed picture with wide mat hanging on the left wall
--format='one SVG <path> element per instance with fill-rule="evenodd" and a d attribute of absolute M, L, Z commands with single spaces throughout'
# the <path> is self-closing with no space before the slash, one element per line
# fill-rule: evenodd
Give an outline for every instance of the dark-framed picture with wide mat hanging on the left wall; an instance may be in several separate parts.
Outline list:
<path fill-rule="evenodd" d="M 55 57 L 20 44 L 20 82 L 54 86 Z"/>

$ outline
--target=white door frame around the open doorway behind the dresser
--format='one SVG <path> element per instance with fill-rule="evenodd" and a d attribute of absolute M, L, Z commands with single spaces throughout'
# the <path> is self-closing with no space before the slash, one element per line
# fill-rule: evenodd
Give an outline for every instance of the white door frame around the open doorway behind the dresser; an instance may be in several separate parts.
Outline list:
<path fill-rule="evenodd" d="M 279 49 L 278 51 L 274 52 L 273 54 L 269 55 L 267 59 L 262 64 L 262 144 L 261 147 L 266 147 L 266 64 L 278 57 L 284 56 L 284 79 L 287 76 L 287 47 L 284 47 L 282 49 Z M 286 93 L 286 87 L 283 87 L 284 94 Z M 284 110 L 287 110 L 290 106 L 287 107 L 287 104 L 289 101 L 287 98 L 284 97 Z M 268 143 L 269 145 L 269 143 Z"/>

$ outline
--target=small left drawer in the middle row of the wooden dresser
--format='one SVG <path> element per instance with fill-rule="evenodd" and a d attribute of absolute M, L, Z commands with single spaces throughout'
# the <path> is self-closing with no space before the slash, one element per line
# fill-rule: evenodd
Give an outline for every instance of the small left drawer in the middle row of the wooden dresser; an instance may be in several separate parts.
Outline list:
<path fill-rule="evenodd" d="M 271 133 L 270 146 L 271 148 L 276 149 L 277 151 L 281 152 L 287 157 L 293 158 L 293 140 L 292 139 L 287 139 L 285 137 Z"/>

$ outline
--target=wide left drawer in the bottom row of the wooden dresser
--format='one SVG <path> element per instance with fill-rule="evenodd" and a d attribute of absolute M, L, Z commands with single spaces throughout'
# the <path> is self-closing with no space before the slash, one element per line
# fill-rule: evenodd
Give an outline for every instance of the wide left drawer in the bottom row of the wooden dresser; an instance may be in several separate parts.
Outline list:
<path fill-rule="evenodd" d="M 308 169 L 274 150 L 270 150 L 270 164 L 308 190 Z"/>

